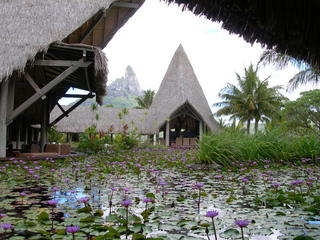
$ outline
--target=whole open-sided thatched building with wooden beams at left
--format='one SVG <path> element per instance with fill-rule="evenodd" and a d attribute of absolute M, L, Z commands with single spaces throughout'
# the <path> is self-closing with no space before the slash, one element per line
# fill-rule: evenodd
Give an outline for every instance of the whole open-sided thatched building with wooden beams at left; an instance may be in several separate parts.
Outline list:
<path fill-rule="evenodd" d="M 38 139 L 87 98 L 105 95 L 104 48 L 144 0 L 11 0 L 0 8 L 0 157 Z M 70 87 L 87 95 L 68 95 Z M 61 97 L 79 101 L 63 109 Z M 60 108 L 50 121 L 50 112 Z M 12 143 L 15 143 L 14 146 Z"/>

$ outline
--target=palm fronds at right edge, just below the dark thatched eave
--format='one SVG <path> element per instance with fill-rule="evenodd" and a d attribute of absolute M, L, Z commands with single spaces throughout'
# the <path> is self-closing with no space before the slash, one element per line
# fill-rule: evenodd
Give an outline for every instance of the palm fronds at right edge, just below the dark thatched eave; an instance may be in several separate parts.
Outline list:
<path fill-rule="evenodd" d="M 287 87 L 288 91 L 293 91 L 299 86 L 307 83 L 317 84 L 320 81 L 319 68 L 313 67 L 310 64 L 297 60 L 289 55 L 278 53 L 273 49 L 264 51 L 260 57 L 259 63 L 262 63 L 263 65 L 273 64 L 279 69 L 283 69 L 291 63 L 299 69 L 302 69 L 289 80 Z"/>

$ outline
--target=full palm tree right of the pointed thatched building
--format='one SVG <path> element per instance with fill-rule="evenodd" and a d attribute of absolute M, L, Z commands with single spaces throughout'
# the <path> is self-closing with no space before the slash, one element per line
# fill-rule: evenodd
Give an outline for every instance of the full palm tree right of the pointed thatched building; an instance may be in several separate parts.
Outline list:
<path fill-rule="evenodd" d="M 257 72 L 258 67 L 254 68 L 251 64 L 245 68 L 244 77 L 236 73 L 238 86 L 229 83 L 219 93 L 223 101 L 214 104 L 222 107 L 216 115 L 230 115 L 231 120 L 239 119 L 241 122 L 247 122 L 248 134 L 251 121 L 255 120 L 255 132 L 257 132 L 259 121 L 271 118 L 283 99 L 279 93 L 281 87 L 270 88 L 268 78 L 260 81 Z"/>

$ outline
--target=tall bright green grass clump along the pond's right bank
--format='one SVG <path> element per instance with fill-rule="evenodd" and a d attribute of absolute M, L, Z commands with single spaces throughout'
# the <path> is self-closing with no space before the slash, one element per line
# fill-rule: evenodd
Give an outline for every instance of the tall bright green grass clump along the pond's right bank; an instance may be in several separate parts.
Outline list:
<path fill-rule="evenodd" d="M 243 131 L 226 130 L 204 136 L 199 143 L 198 158 L 202 163 L 237 166 L 248 160 L 294 161 L 320 156 L 318 135 L 288 135 L 280 130 L 247 135 Z"/>

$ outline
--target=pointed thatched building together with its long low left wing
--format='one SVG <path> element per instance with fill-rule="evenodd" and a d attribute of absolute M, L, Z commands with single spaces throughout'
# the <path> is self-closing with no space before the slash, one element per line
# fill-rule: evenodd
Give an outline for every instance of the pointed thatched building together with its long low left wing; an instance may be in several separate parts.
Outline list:
<path fill-rule="evenodd" d="M 135 130 L 144 135 L 162 132 L 163 144 L 167 146 L 194 145 L 204 132 L 219 128 L 182 45 L 171 60 L 151 107 L 129 109 L 122 119 L 118 117 L 121 111 L 100 107 L 92 112 L 90 107 L 83 106 L 56 127 L 61 132 L 80 133 L 95 124 L 99 131 L 120 133 L 125 123 L 128 131 Z M 99 115 L 98 120 L 95 119 L 96 114 Z"/>

